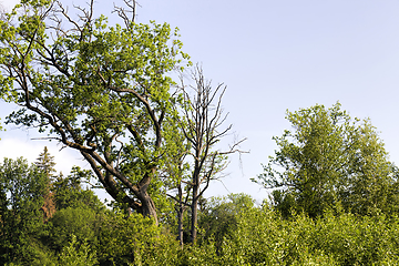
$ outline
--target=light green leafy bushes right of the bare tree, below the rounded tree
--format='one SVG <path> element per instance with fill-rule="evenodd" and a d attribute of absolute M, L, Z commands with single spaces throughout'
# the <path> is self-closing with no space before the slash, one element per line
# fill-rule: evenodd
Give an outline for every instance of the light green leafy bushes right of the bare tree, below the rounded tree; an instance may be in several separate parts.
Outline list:
<path fill-rule="evenodd" d="M 387 265 L 398 262 L 398 218 L 305 215 L 282 218 L 269 208 L 252 208 L 238 217 L 225 239 L 224 265 Z"/>

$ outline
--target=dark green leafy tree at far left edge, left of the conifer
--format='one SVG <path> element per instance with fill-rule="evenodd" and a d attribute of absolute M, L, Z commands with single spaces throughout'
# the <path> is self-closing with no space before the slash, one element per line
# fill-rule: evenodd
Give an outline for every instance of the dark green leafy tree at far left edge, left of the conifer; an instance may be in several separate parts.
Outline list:
<path fill-rule="evenodd" d="M 0 165 L 0 262 L 23 263 L 34 258 L 37 233 L 42 228 L 47 176 L 21 157 Z"/>

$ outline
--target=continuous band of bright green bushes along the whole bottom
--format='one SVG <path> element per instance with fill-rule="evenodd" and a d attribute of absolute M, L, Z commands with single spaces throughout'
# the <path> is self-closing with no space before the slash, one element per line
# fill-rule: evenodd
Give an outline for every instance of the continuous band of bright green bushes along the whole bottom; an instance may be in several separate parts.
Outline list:
<path fill-rule="evenodd" d="M 215 201 L 213 201 L 215 204 Z M 227 212 L 198 245 L 181 248 L 164 226 L 139 214 L 84 208 L 59 211 L 47 224 L 47 241 L 34 244 L 34 265 L 396 265 L 399 262 L 399 217 L 325 213 L 289 219 L 269 208 L 228 212 L 226 201 L 213 205 Z M 234 205 L 231 205 L 234 206 Z M 227 209 L 227 211 L 226 211 Z M 215 214 L 215 212 L 212 212 Z M 223 213 L 222 213 L 223 214 Z M 208 214 L 211 215 L 211 214 Z M 71 218 L 75 217 L 75 218 Z M 203 224 L 205 225 L 205 224 Z M 42 238 L 43 239 L 43 238 Z M 29 265 L 19 262 L 19 265 Z"/>

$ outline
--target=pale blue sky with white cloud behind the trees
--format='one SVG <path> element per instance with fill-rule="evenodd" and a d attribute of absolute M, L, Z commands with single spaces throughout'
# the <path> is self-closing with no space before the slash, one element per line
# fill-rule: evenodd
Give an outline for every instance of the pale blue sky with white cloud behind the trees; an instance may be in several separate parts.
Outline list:
<path fill-rule="evenodd" d="M 3 0 L 12 6 L 9 0 Z M 73 1 L 69 1 L 73 2 Z M 75 1 L 79 2 L 79 1 Z M 98 12 L 112 6 L 96 1 Z M 117 1 L 116 1 L 117 2 Z M 228 176 L 206 196 L 244 192 L 258 202 L 267 192 L 249 181 L 276 149 L 272 137 L 290 129 L 286 111 L 337 101 L 351 116 L 369 117 L 392 162 L 399 163 L 399 1 L 393 0 L 141 0 L 137 22 L 180 29 L 183 51 L 224 83 L 228 123 L 243 150 L 231 157 Z M 12 106 L 0 102 L 0 116 Z M 79 153 L 37 137 L 34 130 L 0 132 L 0 157 L 34 161 L 44 145 L 64 173 L 88 166 Z M 231 139 L 226 140 L 228 144 Z"/>

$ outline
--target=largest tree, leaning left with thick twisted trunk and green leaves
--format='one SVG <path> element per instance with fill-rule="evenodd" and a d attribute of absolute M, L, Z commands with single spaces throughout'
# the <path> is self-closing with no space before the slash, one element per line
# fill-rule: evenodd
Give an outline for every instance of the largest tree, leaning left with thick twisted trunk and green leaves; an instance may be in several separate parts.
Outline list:
<path fill-rule="evenodd" d="M 22 1 L 0 22 L 0 95 L 20 106 L 8 123 L 78 150 L 115 201 L 157 221 L 150 192 L 178 96 L 168 73 L 187 55 L 168 24 L 137 24 L 127 7 L 110 27 L 93 0 L 76 20 L 58 0 Z"/>

